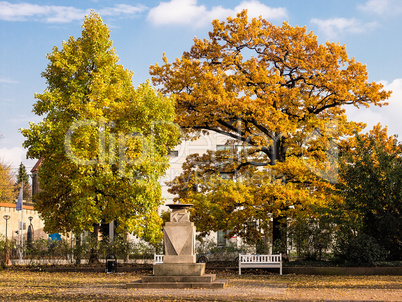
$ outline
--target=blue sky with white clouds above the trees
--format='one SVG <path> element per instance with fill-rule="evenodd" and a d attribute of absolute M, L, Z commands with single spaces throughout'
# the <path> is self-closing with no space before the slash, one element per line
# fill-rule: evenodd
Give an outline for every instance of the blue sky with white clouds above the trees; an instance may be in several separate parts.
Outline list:
<path fill-rule="evenodd" d="M 163 52 L 174 60 L 194 36 L 207 37 L 213 19 L 243 8 L 275 25 L 306 26 L 321 43 L 345 44 L 350 57 L 367 65 L 370 81 L 393 91 L 389 106 L 348 110 L 349 118 L 402 134 L 401 0 L 0 1 L 0 161 L 33 166 L 18 129 L 40 121 L 31 111 L 34 94 L 46 88 L 40 75 L 46 54 L 80 36 L 90 9 L 109 26 L 120 63 L 134 72 L 137 86 L 150 78 L 149 66 L 161 63 Z"/>

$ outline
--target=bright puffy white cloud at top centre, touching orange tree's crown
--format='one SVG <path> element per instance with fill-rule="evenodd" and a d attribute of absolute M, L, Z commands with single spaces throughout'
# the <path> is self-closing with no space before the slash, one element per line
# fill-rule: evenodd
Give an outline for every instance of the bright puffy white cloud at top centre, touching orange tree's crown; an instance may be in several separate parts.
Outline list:
<path fill-rule="evenodd" d="M 171 0 L 161 2 L 148 13 L 148 21 L 155 25 L 189 25 L 202 27 L 213 19 L 226 19 L 235 16 L 243 9 L 248 10 L 249 17 L 259 17 L 267 20 L 287 17 L 285 8 L 271 8 L 257 0 L 243 1 L 234 9 L 214 6 L 208 10 L 204 5 L 198 5 L 197 0 Z"/>

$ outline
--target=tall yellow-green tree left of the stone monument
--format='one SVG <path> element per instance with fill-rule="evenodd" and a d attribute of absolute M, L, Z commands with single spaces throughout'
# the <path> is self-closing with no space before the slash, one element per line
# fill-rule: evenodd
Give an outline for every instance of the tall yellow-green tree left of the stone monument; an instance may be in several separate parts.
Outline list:
<path fill-rule="evenodd" d="M 47 232 L 91 231 L 97 242 L 100 222 L 117 220 L 155 243 L 158 179 L 178 143 L 174 100 L 148 83 L 134 89 L 99 15 L 82 27 L 81 37 L 48 54 L 47 89 L 33 109 L 43 121 L 21 130 L 28 157 L 43 158 L 36 209 Z"/>

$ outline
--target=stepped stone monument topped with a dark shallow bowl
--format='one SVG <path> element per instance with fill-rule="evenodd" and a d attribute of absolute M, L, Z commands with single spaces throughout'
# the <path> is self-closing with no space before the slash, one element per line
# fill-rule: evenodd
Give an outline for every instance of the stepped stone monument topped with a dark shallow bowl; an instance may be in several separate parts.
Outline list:
<path fill-rule="evenodd" d="M 205 263 L 196 262 L 195 226 L 187 209 L 191 204 L 169 204 L 170 222 L 163 228 L 163 263 L 154 264 L 154 275 L 127 284 L 127 288 L 223 288 L 228 280 L 205 274 Z"/>

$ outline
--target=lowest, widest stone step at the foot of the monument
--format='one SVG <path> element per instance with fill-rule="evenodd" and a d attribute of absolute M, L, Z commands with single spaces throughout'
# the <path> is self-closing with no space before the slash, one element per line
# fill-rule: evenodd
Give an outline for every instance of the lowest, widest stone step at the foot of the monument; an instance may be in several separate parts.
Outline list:
<path fill-rule="evenodd" d="M 217 279 L 213 282 L 142 282 L 138 280 L 126 285 L 126 288 L 225 288 L 229 280 Z"/>

